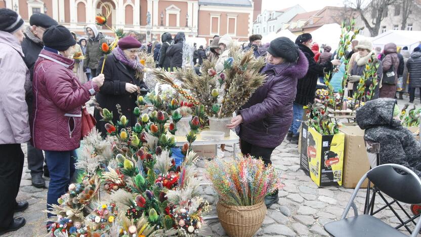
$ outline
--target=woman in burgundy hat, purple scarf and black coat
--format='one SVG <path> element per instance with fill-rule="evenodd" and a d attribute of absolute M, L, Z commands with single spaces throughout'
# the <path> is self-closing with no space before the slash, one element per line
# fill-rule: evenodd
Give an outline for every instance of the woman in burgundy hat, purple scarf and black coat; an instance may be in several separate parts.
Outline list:
<path fill-rule="evenodd" d="M 104 65 L 104 86 L 101 87 L 96 96 L 101 108 L 106 108 L 112 112 L 114 124 L 119 119 L 116 104 L 121 106 L 121 112 L 128 119 L 128 126 L 135 126 L 137 116 L 133 114 L 136 106 L 138 87 L 144 94 L 147 93 L 147 86 L 143 81 L 143 65 L 137 56 L 142 44 L 132 36 L 125 36 L 118 41 L 116 47 L 106 58 L 100 59 L 97 71 L 101 71 L 103 60 Z M 97 129 L 102 136 L 107 135 L 105 122 L 101 121 L 100 111 L 95 108 L 95 119 Z"/>

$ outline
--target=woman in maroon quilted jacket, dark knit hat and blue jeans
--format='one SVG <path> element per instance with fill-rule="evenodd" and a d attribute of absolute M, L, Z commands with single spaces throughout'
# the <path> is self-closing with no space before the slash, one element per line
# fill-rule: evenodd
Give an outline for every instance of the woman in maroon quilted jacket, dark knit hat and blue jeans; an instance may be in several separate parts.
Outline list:
<path fill-rule="evenodd" d="M 75 171 L 75 149 L 80 146 L 81 106 L 95 95 L 104 75 L 80 85 L 69 59 L 76 41 L 62 25 L 44 32 L 44 49 L 33 70 L 33 146 L 44 150 L 50 171 L 47 208 L 57 204 Z M 48 214 L 48 217 L 53 216 Z"/>

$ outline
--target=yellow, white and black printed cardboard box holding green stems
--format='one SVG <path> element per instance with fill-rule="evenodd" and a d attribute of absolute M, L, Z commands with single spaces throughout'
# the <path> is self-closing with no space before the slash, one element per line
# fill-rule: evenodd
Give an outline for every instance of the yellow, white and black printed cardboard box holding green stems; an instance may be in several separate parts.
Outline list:
<path fill-rule="evenodd" d="M 300 166 L 320 187 L 341 186 L 344 162 L 343 133 L 322 135 L 302 123 Z"/>

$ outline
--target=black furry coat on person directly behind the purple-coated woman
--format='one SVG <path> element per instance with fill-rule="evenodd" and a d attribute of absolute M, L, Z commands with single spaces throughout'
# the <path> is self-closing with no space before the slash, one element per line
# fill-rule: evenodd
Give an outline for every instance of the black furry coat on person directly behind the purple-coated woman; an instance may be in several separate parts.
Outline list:
<path fill-rule="evenodd" d="M 309 61 L 309 69 L 307 74 L 301 80 L 298 80 L 295 102 L 301 105 L 307 105 L 308 103 L 314 102 L 316 85 L 319 76 L 323 76 L 324 72 L 331 71 L 333 65 L 330 61 L 322 64 L 316 63 L 316 61 L 314 61 L 314 53 L 311 49 L 303 44 L 297 45 L 300 50 L 303 51 L 304 55 L 306 55 L 306 58 Z"/>

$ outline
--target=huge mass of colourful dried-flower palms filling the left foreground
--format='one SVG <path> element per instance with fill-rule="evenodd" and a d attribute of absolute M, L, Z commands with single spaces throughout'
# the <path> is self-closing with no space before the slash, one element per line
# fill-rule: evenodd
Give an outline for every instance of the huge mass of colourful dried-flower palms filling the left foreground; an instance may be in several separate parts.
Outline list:
<path fill-rule="evenodd" d="M 101 109 L 107 138 L 97 131 L 84 138 L 76 164 L 80 178 L 53 205 L 50 212 L 57 218 L 50 219 L 50 236 L 197 235 L 209 204 L 200 197 L 193 167 L 198 158 L 190 148 L 194 131 L 177 149 L 174 127 L 167 126 L 170 115 L 141 113 L 143 105 L 139 97 L 134 127 L 122 114 L 113 123 L 112 113 Z M 195 117 L 191 127 L 198 126 Z"/>

